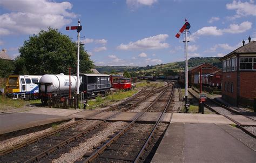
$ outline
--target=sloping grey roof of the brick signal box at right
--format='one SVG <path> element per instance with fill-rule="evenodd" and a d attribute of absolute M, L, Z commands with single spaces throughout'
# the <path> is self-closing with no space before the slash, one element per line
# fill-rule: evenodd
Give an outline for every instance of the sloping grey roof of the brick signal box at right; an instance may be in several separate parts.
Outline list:
<path fill-rule="evenodd" d="M 235 53 L 256 53 L 256 41 L 253 40 L 244 46 L 238 47 L 238 49 L 235 49 L 234 51 L 228 53 L 226 56 L 221 57 L 220 60 L 224 60 L 234 55 Z"/>

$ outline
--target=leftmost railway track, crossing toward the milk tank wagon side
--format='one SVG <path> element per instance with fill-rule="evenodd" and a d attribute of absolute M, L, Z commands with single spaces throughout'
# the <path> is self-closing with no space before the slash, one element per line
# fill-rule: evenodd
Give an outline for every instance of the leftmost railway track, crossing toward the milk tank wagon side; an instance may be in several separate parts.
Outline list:
<path fill-rule="evenodd" d="M 126 110 L 129 110 L 132 105 L 127 106 L 127 103 L 130 103 L 136 98 L 142 98 L 140 100 L 136 100 L 132 102 L 133 104 L 139 104 L 140 102 L 145 99 L 145 93 L 146 94 L 152 94 L 153 91 L 160 91 L 163 90 L 164 87 L 159 87 L 156 90 L 154 87 L 147 88 L 141 92 L 139 92 L 136 96 L 127 99 L 124 101 L 125 105 L 119 104 L 117 105 L 120 107 L 126 107 Z M 110 111 L 111 108 L 100 111 L 98 113 L 95 113 L 90 116 L 96 116 L 96 114 L 103 113 L 106 111 Z M 101 128 L 106 123 L 106 120 L 116 116 L 119 112 L 113 114 L 112 116 L 109 116 L 105 118 L 105 120 L 102 121 L 93 121 L 93 124 L 90 127 L 84 128 L 84 124 L 89 123 L 89 119 L 84 118 L 81 120 L 76 121 L 75 123 L 72 123 L 68 126 L 58 128 L 55 131 L 52 131 L 50 133 L 46 133 L 45 135 L 36 137 L 34 139 L 31 139 L 29 141 L 26 141 L 22 144 L 19 144 L 17 146 L 14 146 L 12 148 L 9 148 L 8 150 L 0 152 L 0 162 L 9 162 L 9 161 L 16 161 L 16 162 L 34 162 L 39 161 L 41 158 L 50 155 L 52 152 L 56 150 L 60 150 L 63 146 L 72 144 L 73 142 L 76 142 L 80 138 L 86 138 L 88 134 L 95 131 L 97 128 Z M 75 129 L 74 129 L 75 128 Z M 77 128 L 77 129 L 76 129 Z M 84 128 L 83 130 L 80 130 L 80 128 Z M 49 143 L 48 143 L 49 142 Z M 26 152 L 29 151 L 29 149 L 33 148 L 33 152 Z"/>

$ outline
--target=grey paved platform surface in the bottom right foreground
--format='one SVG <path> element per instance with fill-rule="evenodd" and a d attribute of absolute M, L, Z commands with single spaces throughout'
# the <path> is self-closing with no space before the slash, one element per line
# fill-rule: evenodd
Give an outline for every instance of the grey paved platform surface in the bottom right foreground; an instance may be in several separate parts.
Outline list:
<path fill-rule="evenodd" d="M 255 162 L 256 141 L 225 124 L 171 121 L 151 162 Z"/>

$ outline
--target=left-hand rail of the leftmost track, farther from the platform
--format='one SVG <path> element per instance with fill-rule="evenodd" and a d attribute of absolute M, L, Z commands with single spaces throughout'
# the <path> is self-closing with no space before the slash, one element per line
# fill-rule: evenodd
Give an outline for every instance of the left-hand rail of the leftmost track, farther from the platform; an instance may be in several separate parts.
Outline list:
<path fill-rule="evenodd" d="M 152 90 L 153 90 L 153 89 L 152 89 Z M 151 91 L 152 91 L 152 90 L 151 90 Z M 144 90 L 144 91 L 145 91 L 145 90 Z M 142 95 L 142 93 L 144 93 L 144 91 L 140 91 L 138 94 L 139 94 L 139 95 Z M 137 95 L 138 95 L 138 94 L 137 94 Z M 136 97 L 138 97 L 138 96 L 136 96 Z M 132 99 L 134 99 L 134 98 L 136 98 L 136 97 L 129 98 L 129 99 L 127 99 L 126 101 L 124 101 L 123 103 L 126 103 L 127 101 L 131 101 Z M 120 104 L 118 104 L 118 105 L 120 105 Z M 116 107 L 116 106 L 113 106 L 113 107 Z M 111 107 L 111 108 L 112 108 L 112 107 Z M 111 108 L 108 108 L 107 110 L 100 111 L 100 112 L 98 112 L 98 113 L 90 114 L 89 116 L 90 116 L 90 117 L 91 117 L 91 116 L 96 116 L 97 114 L 100 114 L 100 113 L 103 113 L 103 112 L 106 112 L 106 111 L 110 111 Z M 130 107 L 129 107 L 129 108 L 130 108 Z M 116 114 L 114 114 L 114 115 L 116 115 Z M 107 117 L 107 119 L 108 119 L 108 118 L 111 118 L 111 117 Z M 11 152 L 14 152 L 14 151 L 18 150 L 19 148 L 22 148 L 22 147 L 25 147 L 25 146 L 27 146 L 27 145 L 29 145 L 29 144 L 32 144 L 33 142 L 37 142 L 37 141 L 39 141 L 39 140 L 41 140 L 41 139 L 47 138 L 47 137 L 49 137 L 49 136 L 51 136 L 51 135 L 53 135 L 53 134 L 56 134 L 56 133 L 58 133 L 58 132 L 60 132 L 60 131 L 66 130 L 67 128 L 69 128 L 69 127 L 71 127 L 71 126 L 73 126 L 73 125 L 76 125 L 76 124 L 78 124 L 80 121 L 84 121 L 84 120 L 90 120 L 90 119 L 89 119 L 88 117 L 85 117 L 85 118 L 79 119 L 79 120 L 75 121 L 74 123 L 71 123 L 71 124 L 69 124 L 69 125 L 67 125 L 67 126 L 58 128 L 58 129 L 53 130 L 53 131 L 51 131 L 51 132 L 48 132 L 48 133 L 46 133 L 46 134 L 44 134 L 44 135 L 39 135 L 38 137 L 35 137 L 35 138 L 31 139 L 31 140 L 28 140 L 28 141 L 23 142 L 22 144 L 19 144 L 19 145 L 16 145 L 16 146 L 14 146 L 14 147 L 8 148 L 7 150 L 1 151 L 1 152 L 0 152 L 0 156 L 5 155 L 5 154 L 8 154 L 8 153 L 11 153 Z M 96 125 L 96 126 L 97 126 L 97 125 Z"/>

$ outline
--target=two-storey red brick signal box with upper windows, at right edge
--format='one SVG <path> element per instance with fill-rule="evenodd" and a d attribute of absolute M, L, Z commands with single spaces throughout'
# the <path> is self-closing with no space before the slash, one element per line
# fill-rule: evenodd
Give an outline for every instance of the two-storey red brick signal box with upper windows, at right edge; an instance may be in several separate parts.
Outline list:
<path fill-rule="evenodd" d="M 249 42 L 220 58 L 223 62 L 221 94 L 228 103 L 253 106 L 256 98 L 256 42 Z"/>

